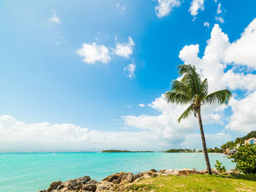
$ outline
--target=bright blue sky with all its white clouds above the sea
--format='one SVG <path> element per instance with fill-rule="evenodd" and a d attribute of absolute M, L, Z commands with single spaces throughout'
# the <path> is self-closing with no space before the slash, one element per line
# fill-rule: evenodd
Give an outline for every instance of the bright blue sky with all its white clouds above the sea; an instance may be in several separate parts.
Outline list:
<path fill-rule="evenodd" d="M 256 1 L 1 0 L 0 153 L 201 148 L 163 93 L 192 64 L 228 105 L 207 147 L 256 130 Z"/>

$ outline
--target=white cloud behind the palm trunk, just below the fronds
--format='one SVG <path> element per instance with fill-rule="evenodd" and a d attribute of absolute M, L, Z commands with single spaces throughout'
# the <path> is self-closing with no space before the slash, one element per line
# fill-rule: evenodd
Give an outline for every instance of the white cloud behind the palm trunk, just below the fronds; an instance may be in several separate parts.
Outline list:
<path fill-rule="evenodd" d="M 198 129 L 197 119 L 194 115 L 189 116 L 189 118 L 182 120 L 178 123 L 177 119 L 182 112 L 187 108 L 187 106 L 181 106 L 176 104 L 167 104 L 165 96 L 155 99 L 151 104 L 148 105 L 154 110 L 159 112 L 159 115 L 128 115 L 124 116 L 124 123 L 126 126 L 139 128 L 145 131 L 152 131 L 157 137 L 164 139 L 169 145 L 178 147 L 200 147 L 200 142 L 195 142 L 197 138 L 192 139 L 194 143 L 192 145 L 184 145 L 187 141 L 189 135 L 194 135 L 195 131 Z M 222 112 L 225 108 L 213 108 L 211 106 L 203 107 L 203 120 L 204 123 L 222 123 Z M 215 114 L 210 115 L 210 114 Z M 220 117 L 220 118 L 219 118 Z M 215 143 L 215 145 L 220 145 L 221 143 Z M 215 146 L 214 145 L 214 146 Z"/>

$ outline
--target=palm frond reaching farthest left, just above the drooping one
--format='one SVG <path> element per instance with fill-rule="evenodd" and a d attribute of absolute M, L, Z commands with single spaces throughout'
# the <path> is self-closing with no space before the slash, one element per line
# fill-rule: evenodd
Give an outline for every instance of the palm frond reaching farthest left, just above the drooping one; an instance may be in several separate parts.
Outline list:
<path fill-rule="evenodd" d="M 187 104 L 191 99 L 189 99 L 184 93 L 176 92 L 176 91 L 168 91 L 165 93 L 165 98 L 168 103 L 176 103 L 176 104 Z"/>

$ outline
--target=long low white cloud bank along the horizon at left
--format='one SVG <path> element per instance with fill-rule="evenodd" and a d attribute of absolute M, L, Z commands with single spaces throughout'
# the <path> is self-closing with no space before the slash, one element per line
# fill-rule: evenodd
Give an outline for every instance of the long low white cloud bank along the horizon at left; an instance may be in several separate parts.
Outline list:
<path fill-rule="evenodd" d="M 69 123 L 27 124 L 9 115 L 0 117 L 0 135 L 0 153 L 99 151 L 113 148 L 166 150 L 171 143 L 158 131 L 95 131 Z M 181 137 L 182 141 L 184 139 Z"/>

